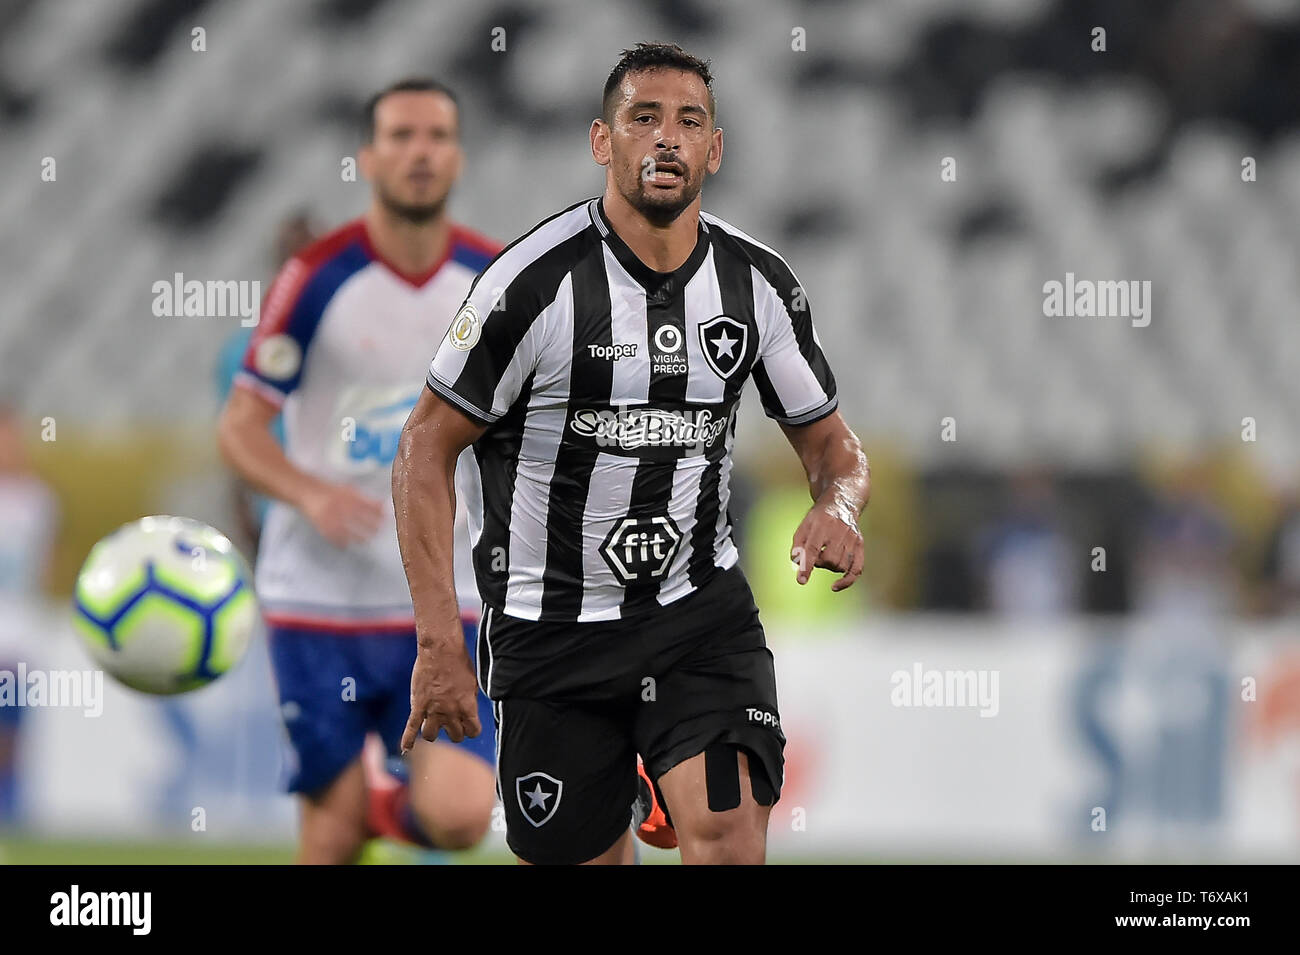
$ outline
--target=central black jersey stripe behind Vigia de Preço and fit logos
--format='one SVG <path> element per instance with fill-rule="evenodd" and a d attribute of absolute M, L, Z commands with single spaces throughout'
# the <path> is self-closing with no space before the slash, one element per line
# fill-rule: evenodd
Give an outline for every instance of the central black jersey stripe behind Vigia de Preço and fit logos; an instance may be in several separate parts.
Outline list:
<path fill-rule="evenodd" d="M 696 240 L 697 251 L 699 246 L 706 246 L 707 238 L 703 231 Z M 707 253 L 707 248 L 703 249 Z M 688 265 L 694 261 L 697 268 L 702 256 L 692 255 Z M 686 275 L 689 278 L 689 275 Z M 646 286 L 646 327 L 651 352 L 658 330 L 664 325 L 677 329 L 677 340 L 681 343 L 681 365 L 684 372 L 677 374 L 650 376 L 650 391 L 646 405 L 650 408 L 681 407 L 686 400 L 686 383 L 690 378 L 689 351 L 686 350 L 686 283 L 677 273 L 668 275 L 654 285 Z M 722 437 L 714 442 L 714 447 L 725 444 Z M 668 517 L 668 508 L 672 504 L 672 481 L 677 472 L 677 461 L 655 460 L 653 456 L 642 457 L 637 464 L 637 473 L 632 481 L 632 498 L 628 502 L 629 517 Z M 681 543 L 677 544 L 682 546 Z M 658 605 L 655 598 L 663 586 L 662 577 L 642 576 L 628 583 L 624 596 L 621 616 L 629 616 L 644 609 Z"/>

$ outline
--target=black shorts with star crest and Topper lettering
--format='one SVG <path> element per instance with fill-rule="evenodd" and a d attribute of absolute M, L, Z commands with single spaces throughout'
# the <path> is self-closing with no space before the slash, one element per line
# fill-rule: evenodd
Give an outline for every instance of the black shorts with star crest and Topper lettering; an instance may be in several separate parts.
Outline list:
<path fill-rule="evenodd" d="M 497 717 L 506 842 L 526 861 L 576 864 L 610 848 L 632 817 L 638 752 L 658 780 L 731 743 L 780 795 L 776 674 L 740 568 L 629 620 L 489 609 L 477 660 Z"/>

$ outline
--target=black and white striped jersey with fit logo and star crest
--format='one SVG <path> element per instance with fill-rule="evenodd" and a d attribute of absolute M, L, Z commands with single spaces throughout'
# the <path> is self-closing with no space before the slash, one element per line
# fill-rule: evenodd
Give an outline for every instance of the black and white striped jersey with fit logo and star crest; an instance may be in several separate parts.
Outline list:
<path fill-rule="evenodd" d="M 484 602 L 525 620 L 618 620 L 737 560 L 727 504 L 745 381 L 798 425 L 836 408 L 785 260 L 702 213 L 690 259 L 646 266 L 578 203 L 480 273 L 428 386 L 488 430 L 472 526 Z"/>

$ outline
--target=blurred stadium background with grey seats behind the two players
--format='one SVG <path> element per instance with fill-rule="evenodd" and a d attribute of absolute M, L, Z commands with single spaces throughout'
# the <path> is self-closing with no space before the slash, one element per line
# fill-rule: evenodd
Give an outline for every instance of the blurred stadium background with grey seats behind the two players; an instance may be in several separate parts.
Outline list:
<path fill-rule="evenodd" d="M 806 486 L 742 413 L 774 860 L 1300 858 L 1300 0 L 0 1 L 0 667 L 87 665 L 68 595 L 125 521 L 251 552 L 213 439 L 246 330 L 155 282 L 265 283 L 292 217 L 358 214 L 406 74 L 462 97 L 452 216 L 511 239 L 599 191 L 641 39 L 712 60 L 705 207 L 798 272 L 874 465 L 863 586 L 801 591 Z M 1150 282 L 1149 325 L 1048 317 L 1067 273 Z M 897 706 L 918 669 L 996 703 Z M 280 747 L 261 646 L 0 708 L 0 861 L 285 861 Z"/>

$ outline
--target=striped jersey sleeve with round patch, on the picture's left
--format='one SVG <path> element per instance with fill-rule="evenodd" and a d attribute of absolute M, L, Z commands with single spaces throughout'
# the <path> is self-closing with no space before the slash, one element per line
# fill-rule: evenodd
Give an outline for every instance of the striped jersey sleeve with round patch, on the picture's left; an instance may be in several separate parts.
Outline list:
<path fill-rule="evenodd" d="M 485 427 L 510 411 L 537 365 L 542 309 L 524 282 L 507 283 L 511 277 L 499 257 L 474 279 L 425 379 Z"/>

